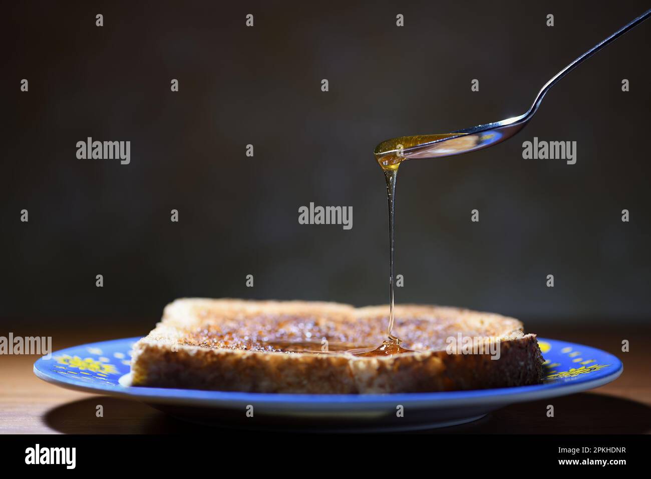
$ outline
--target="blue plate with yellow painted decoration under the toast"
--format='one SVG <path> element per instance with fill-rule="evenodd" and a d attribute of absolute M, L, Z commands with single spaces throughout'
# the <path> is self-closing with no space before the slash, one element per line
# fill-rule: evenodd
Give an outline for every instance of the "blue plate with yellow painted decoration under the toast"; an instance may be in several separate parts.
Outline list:
<path fill-rule="evenodd" d="M 605 385 L 624 366 L 594 347 L 538 339 L 543 384 L 408 394 L 261 394 L 129 385 L 130 351 L 140 338 L 62 349 L 40 358 L 34 373 L 64 388 L 135 399 L 180 418 L 221 426 L 284 429 L 424 429 L 478 419 L 508 404 L 565 396 Z"/>

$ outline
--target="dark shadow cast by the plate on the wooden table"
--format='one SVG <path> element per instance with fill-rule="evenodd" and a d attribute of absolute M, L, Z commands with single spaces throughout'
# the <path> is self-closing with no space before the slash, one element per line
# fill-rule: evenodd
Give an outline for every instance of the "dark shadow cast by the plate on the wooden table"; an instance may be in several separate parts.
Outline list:
<path fill-rule="evenodd" d="M 547 417 L 547 405 L 555 417 Z M 104 416 L 97 417 L 102 405 Z M 239 424 L 249 425 L 240 420 Z M 51 409 L 44 416 L 50 428 L 68 434 L 174 434 L 205 433 L 205 424 L 185 422 L 148 405 L 125 399 L 96 396 Z M 276 430 L 300 429 L 290 420 L 277 423 Z M 222 424 L 224 426 L 224 424 Z M 231 423 L 230 428 L 237 427 Z M 381 426 L 381 425 L 380 425 Z M 210 431 L 219 429 L 212 426 Z M 428 429 L 419 433 L 439 434 L 641 434 L 651 430 L 651 408 L 628 399 L 603 394 L 574 394 L 510 405 L 484 418 L 450 428 Z"/>

